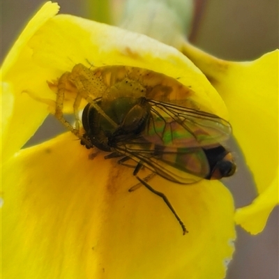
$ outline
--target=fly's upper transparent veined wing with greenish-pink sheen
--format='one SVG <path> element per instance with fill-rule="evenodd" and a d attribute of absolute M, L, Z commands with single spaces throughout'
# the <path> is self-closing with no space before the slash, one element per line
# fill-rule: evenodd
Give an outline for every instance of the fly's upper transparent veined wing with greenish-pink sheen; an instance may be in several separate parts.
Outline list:
<path fill-rule="evenodd" d="M 216 146 L 232 133 L 229 123 L 214 114 L 156 100 L 148 103 L 151 117 L 143 136 L 153 144 L 176 148 Z"/>

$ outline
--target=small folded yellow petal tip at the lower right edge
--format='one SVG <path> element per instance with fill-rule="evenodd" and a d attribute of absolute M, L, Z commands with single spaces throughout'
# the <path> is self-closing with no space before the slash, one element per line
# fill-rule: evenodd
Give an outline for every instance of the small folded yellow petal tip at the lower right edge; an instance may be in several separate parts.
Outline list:
<path fill-rule="evenodd" d="M 267 218 L 278 205 L 278 175 L 271 185 L 264 190 L 249 206 L 236 211 L 236 224 L 241 225 L 251 234 L 258 234 L 264 229 Z"/>

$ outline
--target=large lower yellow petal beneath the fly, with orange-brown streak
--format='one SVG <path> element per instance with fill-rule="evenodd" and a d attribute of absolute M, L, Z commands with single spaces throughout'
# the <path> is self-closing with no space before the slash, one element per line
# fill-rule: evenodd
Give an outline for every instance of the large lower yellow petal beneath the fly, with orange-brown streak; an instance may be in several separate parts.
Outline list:
<path fill-rule="evenodd" d="M 66 133 L 3 167 L 4 278 L 225 277 L 235 232 L 222 183 L 150 181 L 186 224 L 183 236 L 160 197 L 128 192 L 133 169 L 90 152 Z"/>

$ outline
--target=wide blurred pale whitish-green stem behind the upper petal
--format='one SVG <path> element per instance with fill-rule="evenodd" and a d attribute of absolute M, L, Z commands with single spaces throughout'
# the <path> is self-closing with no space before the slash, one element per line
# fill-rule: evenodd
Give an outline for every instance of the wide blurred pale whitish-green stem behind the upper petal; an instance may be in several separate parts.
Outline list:
<path fill-rule="evenodd" d="M 181 49 L 193 13 L 193 0 L 126 0 L 119 25 Z"/>

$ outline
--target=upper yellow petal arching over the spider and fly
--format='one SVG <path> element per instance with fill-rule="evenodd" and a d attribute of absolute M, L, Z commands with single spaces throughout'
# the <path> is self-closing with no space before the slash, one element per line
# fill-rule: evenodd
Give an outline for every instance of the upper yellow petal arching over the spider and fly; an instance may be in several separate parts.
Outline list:
<path fill-rule="evenodd" d="M 80 17 L 57 15 L 47 2 L 29 22 L 3 64 L 3 82 L 15 96 L 5 157 L 19 150 L 45 119 L 48 107 L 31 98 L 55 99 L 47 81 L 56 80 L 77 63 L 89 68 L 126 65 L 148 68 L 179 81 L 197 92 L 197 102 L 227 118 L 227 110 L 202 72 L 183 54 L 147 36 Z M 28 92 L 28 93 L 26 93 Z M 22 129 L 19 133 L 19 129 Z"/>

